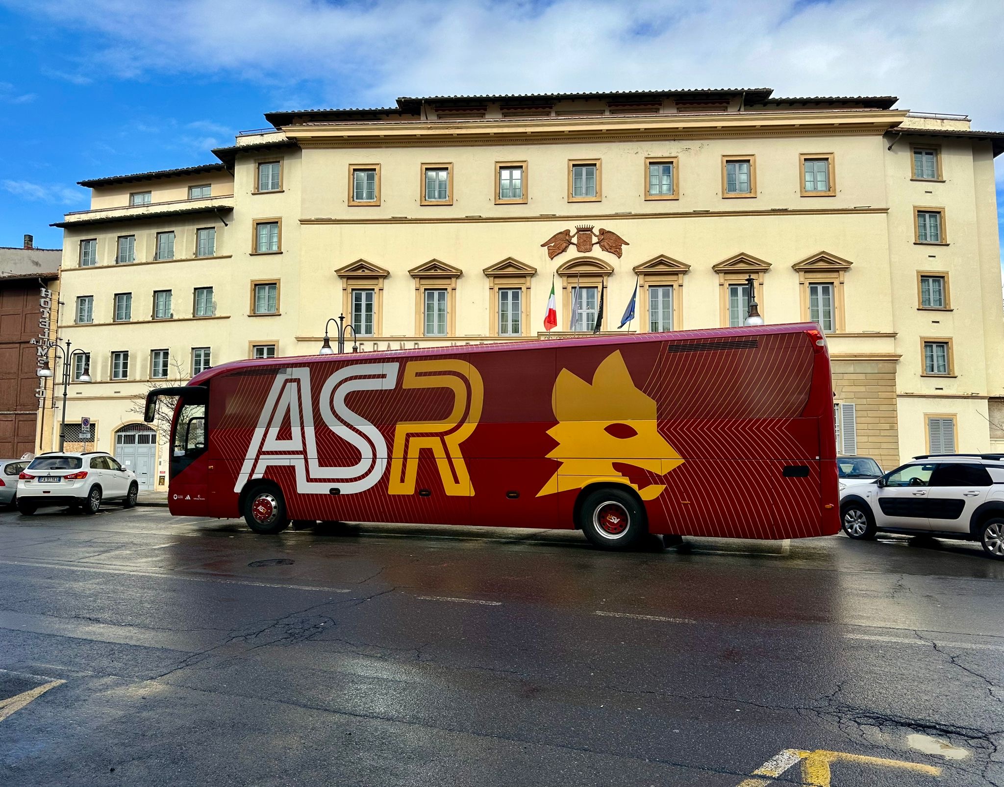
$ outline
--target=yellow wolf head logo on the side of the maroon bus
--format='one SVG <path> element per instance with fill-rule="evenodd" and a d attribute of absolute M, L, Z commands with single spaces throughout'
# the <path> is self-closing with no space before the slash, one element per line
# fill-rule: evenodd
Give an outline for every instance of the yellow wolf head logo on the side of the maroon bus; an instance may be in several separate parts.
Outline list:
<path fill-rule="evenodd" d="M 613 469 L 614 463 L 661 476 L 683 463 L 659 434 L 656 402 L 635 385 L 619 350 L 596 367 L 591 384 L 561 369 L 551 391 L 551 408 L 558 423 L 547 434 L 558 445 L 547 458 L 561 465 L 537 497 L 594 481 L 615 481 L 634 487 L 643 500 L 652 500 L 666 487 L 653 484 L 640 489 Z"/>

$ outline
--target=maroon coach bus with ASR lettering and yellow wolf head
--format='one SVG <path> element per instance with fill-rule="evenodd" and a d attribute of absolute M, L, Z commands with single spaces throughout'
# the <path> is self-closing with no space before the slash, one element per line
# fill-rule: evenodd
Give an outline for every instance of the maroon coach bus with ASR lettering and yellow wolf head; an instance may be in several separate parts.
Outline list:
<path fill-rule="evenodd" d="M 177 398 L 171 513 L 832 535 L 829 356 L 813 324 L 224 363 Z"/>

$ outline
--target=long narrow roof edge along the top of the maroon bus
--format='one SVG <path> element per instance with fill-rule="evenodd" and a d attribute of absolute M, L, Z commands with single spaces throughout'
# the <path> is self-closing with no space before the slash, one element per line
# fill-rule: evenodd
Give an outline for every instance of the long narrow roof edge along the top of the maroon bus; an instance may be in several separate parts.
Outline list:
<path fill-rule="evenodd" d="M 681 339 L 709 339 L 709 338 L 731 338 L 736 336 L 761 336 L 777 333 L 801 333 L 804 331 L 818 331 L 819 326 L 814 322 L 791 322 L 781 325 L 758 325 L 742 326 L 736 328 L 700 328 L 696 330 L 674 330 L 664 333 L 630 333 L 625 335 L 605 334 L 600 336 L 569 336 L 560 339 L 527 339 L 525 341 L 499 341 L 490 343 L 460 343 L 465 338 L 477 341 L 478 337 L 453 337 L 458 343 L 447 347 L 410 347 L 407 349 L 372 350 L 366 352 L 344 352 L 330 355 L 288 355 L 275 358 L 249 358 L 245 360 L 232 360 L 213 366 L 196 374 L 189 381 L 189 385 L 204 383 L 213 377 L 226 374 L 245 368 L 262 368 L 267 366 L 286 366 L 290 363 L 329 363 L 331 361 L 350 360 L 355 357 L 372 358 L 373 360 L 409 357 L 416 355 L 448 355 L 457 352 L 505 352 L 520 349 L 541 349 L 543 347 L 571 347 L 582 345 L 602 345 L 602 344 L 631 344 L 635 342 L 667 341 Z M 450 337 L 448 337 L 450 338 Z M 391 339 L 386 339 L 389 343 L 394 343 Z"/>

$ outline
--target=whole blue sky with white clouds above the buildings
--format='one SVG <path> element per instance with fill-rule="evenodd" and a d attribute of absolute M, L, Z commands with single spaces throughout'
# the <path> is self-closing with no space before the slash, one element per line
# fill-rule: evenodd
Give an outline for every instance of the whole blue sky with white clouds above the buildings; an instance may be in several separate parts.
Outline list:
<path fill-rule="evenodd" d="M 987 0 L 0 0 L 0 246 L 57 247 L 76 181 L 214 161 L 270 109 L 763 86 L 1004 130 L 1002 24 Z"/>

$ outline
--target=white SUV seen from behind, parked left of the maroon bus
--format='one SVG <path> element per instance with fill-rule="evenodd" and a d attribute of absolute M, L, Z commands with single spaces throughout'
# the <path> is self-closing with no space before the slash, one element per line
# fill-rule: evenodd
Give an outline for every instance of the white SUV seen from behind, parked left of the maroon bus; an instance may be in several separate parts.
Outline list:
<path fill-rule="evenodd" d="M 139 494 L 136 473 L 109 454 L 53 451 L 39 454 L 18 476 L 17 510 L 34 514 L 42 506 L 69 506 L 94 514 L 102 500 L 119 500 L 132 508 Z"/>

